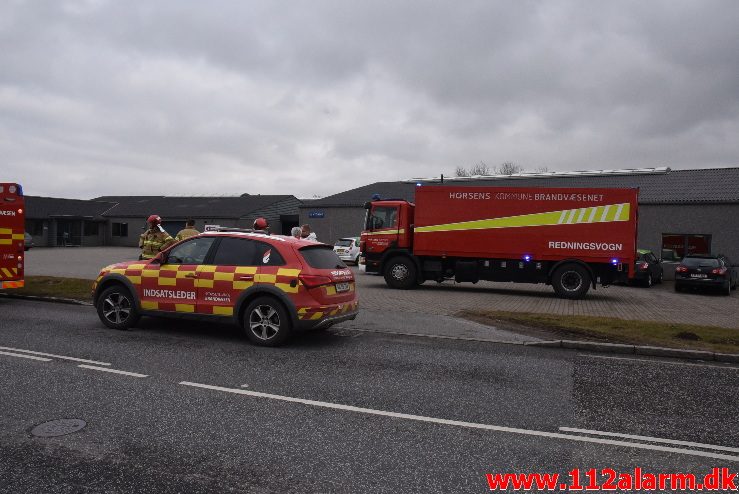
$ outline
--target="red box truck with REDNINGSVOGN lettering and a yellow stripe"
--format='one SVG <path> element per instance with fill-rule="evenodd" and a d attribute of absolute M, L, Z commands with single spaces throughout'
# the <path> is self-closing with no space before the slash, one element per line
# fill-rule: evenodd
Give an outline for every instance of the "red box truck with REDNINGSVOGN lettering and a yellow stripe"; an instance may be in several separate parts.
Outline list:
<path fill-rule="evenodd" d="M 633 277 L 637 189 L 416 187 L 415 204 L 375 200 L 360 248 L 393 288 L 426 280 L 546 283 L 583 298 Z"/>

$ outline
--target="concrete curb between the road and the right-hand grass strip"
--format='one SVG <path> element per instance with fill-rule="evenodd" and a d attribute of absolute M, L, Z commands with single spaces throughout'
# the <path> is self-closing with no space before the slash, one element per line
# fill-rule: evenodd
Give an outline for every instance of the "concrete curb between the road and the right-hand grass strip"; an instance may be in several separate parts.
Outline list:
<path fill-rule="evenodd" d="M 532 341 L 524 343 L 526 346 L 545 348 L 569 348 L 589 352 L 620 353 L 645 355 L 650 357 L 672 357 L 692 360 L 711 360 L 715 362 L 739 363 L 739 354 L 708 352 L 705 350 L 679 350 L 658 346 L 623 345 L 619 343 L 601 343 L 598 341 L 552 340 Z"/>

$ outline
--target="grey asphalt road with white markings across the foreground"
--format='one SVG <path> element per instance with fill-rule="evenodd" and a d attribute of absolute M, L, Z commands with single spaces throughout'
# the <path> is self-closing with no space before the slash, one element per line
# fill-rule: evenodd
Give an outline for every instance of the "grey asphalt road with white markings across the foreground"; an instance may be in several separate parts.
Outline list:
<path fill-rule="evenodd" d="M 0 324 L 0 492 L 489 492 L 486 473 L 739 470 L 737 366 L 347 327 L 265 349 L 229 326 L 119 332 L 89 307 L 9 299 Z M 30 434 L 72 418 L 86 427 Z"/>

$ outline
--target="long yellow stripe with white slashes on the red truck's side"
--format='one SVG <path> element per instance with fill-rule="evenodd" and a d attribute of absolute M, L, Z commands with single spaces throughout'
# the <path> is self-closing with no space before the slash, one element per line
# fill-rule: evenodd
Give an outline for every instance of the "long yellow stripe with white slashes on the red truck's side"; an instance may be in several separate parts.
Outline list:
<path fill-rule="evenodd" d="M 545 213 L 522 214 L 503 218 L 462 221 L 441 225 L 417 226 L 416 233 L 449 232 L 459 230 L 488 230 L 494 228 L 524 228 L 536 226 L 577 225 L 583 223 L 613 223 L 629 221 L 631 204 L 607 204 L 589 208 L 564 209 Z"/>

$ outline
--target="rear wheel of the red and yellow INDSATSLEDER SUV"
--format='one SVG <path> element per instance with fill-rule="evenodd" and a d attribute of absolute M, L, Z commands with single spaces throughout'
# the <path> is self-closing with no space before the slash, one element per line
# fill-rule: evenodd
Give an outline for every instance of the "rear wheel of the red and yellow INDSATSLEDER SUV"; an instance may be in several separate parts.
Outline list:
<path fill-rule="evenodd" d="M 259 297 L 244 311 L 244 333 L 260 346 L 285 343 L 292 332 L 292 322 L 283 305 L 273 297 Z"/>

